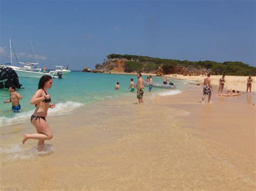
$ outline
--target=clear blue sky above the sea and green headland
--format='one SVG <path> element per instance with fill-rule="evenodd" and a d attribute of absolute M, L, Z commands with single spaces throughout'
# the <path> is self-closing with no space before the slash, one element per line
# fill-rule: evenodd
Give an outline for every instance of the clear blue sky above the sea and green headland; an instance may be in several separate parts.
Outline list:
<path fill-rule="evenodd" d="M 94 69 L 112 53 L 256 67 L 255 5 L 248 0 L 0 0 L 0 63 L 10 62 L 11 39 L 18 61 L 37 57 L 49 69 Z"/>

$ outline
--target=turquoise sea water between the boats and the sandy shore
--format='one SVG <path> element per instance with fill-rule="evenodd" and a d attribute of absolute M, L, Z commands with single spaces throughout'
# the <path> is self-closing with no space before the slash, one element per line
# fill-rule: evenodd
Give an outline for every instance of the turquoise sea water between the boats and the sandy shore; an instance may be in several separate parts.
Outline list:
<path fill-rule="evenodd" d="M 56 103 L 56 108 L 52 111 L 75 108 L 87 103 L 102 101 L 120 96 L 134 96 L 136 93 L 130 93 L 130 79 L 133 78 L 137 83 L 136 75 L 118 75 L 118 74 L 96 74 L 71 72 L 69 75 L 63 75 L 63 79 L 53 79 L 53 84 L 48 93 L 51 96 L 52 103 Z M 146 76 L 143 76 L 146 79 Z M 178 89 L 182 89 L 181 81 L 172 80 Z M 9 99 L 8 89 L 0 89 L 0 125 L 9 123 L 20 118 L 28 117 L 35 110 L 35 106 L 30 104 L 30 99 L 35 94 L 39 79 L 20 77 L 19 82 L 23 84 L 24 89 L 18 89 L 18 93 L 23 96 L 20 100 L 21 112 L 14 114 L 11 111 L 11 103 L 4 104 L 4 100 Z M 114 90 L 116 82 L 120 82 L 120 89 Z M 162 83 L 163 78 L 154 77 L 153 82 Z M 184 83 L 184 82 L 183 82 Z M 172 91 L 176 94 L 177 90 L 153 88 L 152 93 L 165 93 Z M 145 94 L 148 92 L 145 87 Z M 170 94 L 170 95 L 171 95 Z"/>

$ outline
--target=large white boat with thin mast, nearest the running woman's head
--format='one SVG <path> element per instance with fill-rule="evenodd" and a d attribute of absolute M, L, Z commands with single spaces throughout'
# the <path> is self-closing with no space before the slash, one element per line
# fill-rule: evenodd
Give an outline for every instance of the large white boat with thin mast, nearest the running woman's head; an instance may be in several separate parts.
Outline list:
<path fill-rule="evenodd" d="M 35 67 L 35 65 L 38 65 L 38 62 L 19 62 L 15 53 L 15 57 L 18 63 L 22 63 L 24 67 L 18 67 L 18 66 L 13 66 L 12 65 L 12 51 L 11 51 L 12 43 L 10 39 L 10 54 L 11 54 L 11 63 L 10 65 L 6 65 L 12 69 L 15 70 L 17 75 L 19 77 L 42 77 L 43 75 L 49 75 L 51 77 L 54 76 L 54 74 L 50 73 L 42 73 L 41 68 Z"/>

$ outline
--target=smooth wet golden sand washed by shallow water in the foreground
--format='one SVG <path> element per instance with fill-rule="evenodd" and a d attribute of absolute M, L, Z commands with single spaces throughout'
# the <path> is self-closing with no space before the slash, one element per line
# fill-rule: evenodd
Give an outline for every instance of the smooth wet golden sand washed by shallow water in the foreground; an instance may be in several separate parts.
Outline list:
<path fill-rule="evenodd" d="M 201 104 L 201 93 L 147 93 L 144 104 L 134 94 L 49 116 L 46 155 L 31 154 L 36 140 L 19 145 L 35 132 L 29 121 L 2 128 L 0 188 L 255 189 L 255 94 Z"/>

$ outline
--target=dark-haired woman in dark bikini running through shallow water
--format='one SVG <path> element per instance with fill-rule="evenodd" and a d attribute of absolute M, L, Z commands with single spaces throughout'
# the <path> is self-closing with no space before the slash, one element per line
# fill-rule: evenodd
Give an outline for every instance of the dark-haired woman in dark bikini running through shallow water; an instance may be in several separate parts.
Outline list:
<path fill-rule="evenodd" d="M 32 105 L 36 105 L 36 110 L 30 118 L 31 123 L 35 126 L 37 133 L 35 134 L 24 134 L 22 143 L 25 144 L 28 139 L 38 139 L 37 150 L 44 150 L 44 140 L 52 139 L 52 131 L 46 122 L 45 117 L 49 108 L 54 108 L 55 104 L 51 102 L 51 97 L 47 93 L 47 89 L 52 86 L 52 77 L 44 75 L 41 77 L 38 83 L 38 90 L 30 100 Z"/>

